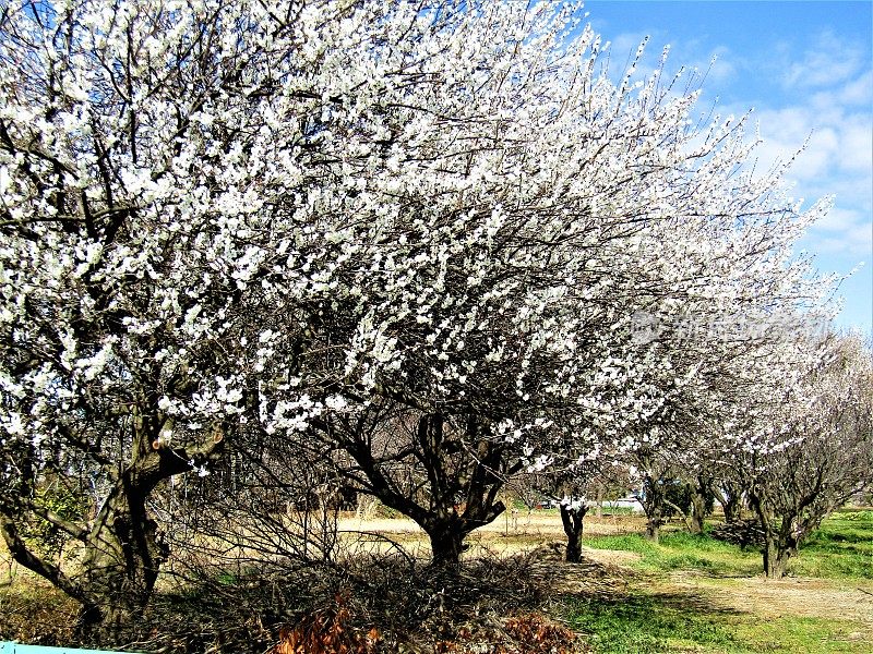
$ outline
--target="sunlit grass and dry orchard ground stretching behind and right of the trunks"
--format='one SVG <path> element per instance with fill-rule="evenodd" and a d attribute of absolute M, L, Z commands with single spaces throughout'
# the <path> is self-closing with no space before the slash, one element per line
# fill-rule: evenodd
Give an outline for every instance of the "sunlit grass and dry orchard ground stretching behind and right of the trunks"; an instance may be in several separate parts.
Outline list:
<path fill-rule="evenodd" d="M 585 557 L 626 584 L 617 584 L 614 604 L 571 601 L 571 623 L 595 641 L 612 639 L 597 651 L 873 650 L 873 512 L 827 520 L 779 581 L 763 577 L 755 548 L 690 536 L 677 522 L 654 545 L 642 537 L 644 520 L 585 520 Z M 381 532 L 417 555 L 428 552 L 426 535 L 409 520 L 347 518 L 340 529 Z M 517 525 L 501 518 L 468 542 L 468 557 L 543 547 L 558 554 L 563 530 L 555 510 L 537 510 L 519 513 Z M 584 595 L 585 583 L 562 590 Z"/>

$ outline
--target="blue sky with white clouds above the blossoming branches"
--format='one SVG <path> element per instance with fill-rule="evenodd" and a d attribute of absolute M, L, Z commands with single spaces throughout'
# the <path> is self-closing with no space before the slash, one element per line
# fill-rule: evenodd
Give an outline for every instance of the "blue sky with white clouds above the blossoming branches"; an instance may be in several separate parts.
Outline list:
<path fill-rule="evenodd" d="M 722 114 L 754 108 L 762 162 L 810 137 L 791 195 L 836 201 L 801 245 L 823 272 L 864 263 L 840 286 L 837 325 L 873 332 L 873 2 L 590 0 L 585 11 L 612 43 L 612 65 L 649 36 L 651 65 L 669 44 L 671 70 L 709 71 L 702 111 L 716 99 Z"/>

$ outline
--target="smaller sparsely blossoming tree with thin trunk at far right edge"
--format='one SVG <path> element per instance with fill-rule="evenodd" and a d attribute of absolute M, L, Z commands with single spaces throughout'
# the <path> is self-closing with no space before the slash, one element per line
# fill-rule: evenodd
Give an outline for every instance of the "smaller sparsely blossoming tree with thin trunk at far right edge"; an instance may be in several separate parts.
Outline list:
<path fill-rule="evenodd" d="M 817 360 L 776 401 L 748 409 L 754 429 L 736 459 L 764 533 L 764 571 L 785 574 L 803 540 L 871 484 L 873 363 L 857 337 L 809 342 Z M 742 428 L 742 427 L 741 427 Z"/>

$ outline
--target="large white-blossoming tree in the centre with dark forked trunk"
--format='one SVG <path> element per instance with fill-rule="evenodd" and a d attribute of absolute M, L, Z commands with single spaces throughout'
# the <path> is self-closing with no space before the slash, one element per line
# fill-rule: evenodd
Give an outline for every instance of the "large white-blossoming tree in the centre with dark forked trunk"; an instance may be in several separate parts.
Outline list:
<path fill-rule="evenodd" d="M 464 535 L 500 513 L 507 474 L 546 465 L 567 440 L 590 448 L 656 413 L 669 422 L 667 399 L 705 386 L 738 348 L 641 342 L 641 315 L 715 320 L 731 307 L 751 320 L 808 293 L 787 258 L 810 216 L 780 198 L 776 175 L 737 170 L 742 130 L 690 128 L 695 94 L 674 95 L 660 73 L 612 84 L 589 31 L 543 50 L 567 29 L 547 9 L 498 17 L 486 3 L 451 29 L 428 26 L 421 38 L 458 65 L 407 61 L 417 84 L 379 96 L 381 120 L 404 117 L 388 130 L 404 166 L 348 165 L 367 181 L 346 206 L 362 216 L 375 202 L 379 231 L 340 274 L 348 300 L 322 310 L 318 355 L 294 379 L 331 379 L 307 396 L 319 415 L 272 425 L 348 451 L 362 487 L 422 525 L 436 561 L 456 562 Z M 345 125 L 344 111 L 331 116 Z M 325 362 L 331 343 L 343 358 Z M 298 397 L 267 399 L 265 413 Z M 407 426 L 376 452 L 373 434 L 396 411 Z M 423 471 L 407 484 L 410 465 Z"/>

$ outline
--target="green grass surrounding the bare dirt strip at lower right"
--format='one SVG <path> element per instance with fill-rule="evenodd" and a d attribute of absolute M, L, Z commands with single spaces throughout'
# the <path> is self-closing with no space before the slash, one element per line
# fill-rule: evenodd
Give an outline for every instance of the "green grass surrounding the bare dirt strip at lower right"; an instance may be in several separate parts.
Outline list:
<path fill-rule="evenodd" d="M 761 574 L 761 553 L 755 548 L 743 550 L 685 532 L 663 533 L 657 545 L 637 534 L 589 537 L 585 544 L 635 553 L 639 558 L 631 565 L 643 572 L 634 582 L 638 588 L 629 589 L 621 597 L 566 600 L 567 621 L 585 634 L 597 654 L 871 651 L 864 640 L 869 630 L 851 619 L 841 619 L 839 614 L 830 618 L 778 615 L 762 619 L 753 611 L 728 610 L 723 602 L 709 600 L 713 592 L 717 596 L 730 584 L 744 583 L 727 578 Z M 678 570 L 703 574 L 695 592 L 673 585 L 669 573 Z M 825 520 L 792 561 L 790 573 L 868 585 L 864 580 L 873 579 L 873 511 L 839 512 Z M 659 581 L 647 585 L 653 580 Z"/>

